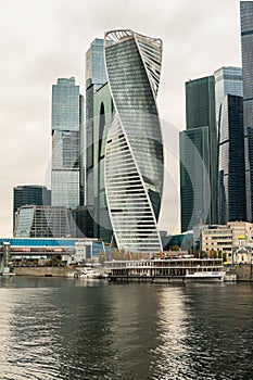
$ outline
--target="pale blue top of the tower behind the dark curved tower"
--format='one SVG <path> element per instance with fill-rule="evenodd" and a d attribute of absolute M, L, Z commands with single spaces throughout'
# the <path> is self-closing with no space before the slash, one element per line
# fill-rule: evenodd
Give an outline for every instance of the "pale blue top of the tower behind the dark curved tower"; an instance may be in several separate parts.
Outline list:
<path fill-rule="evenodd" d="M 216 122 L 218 125 L 220 105 L 226 94 L 242 97 L 242 68 L 225 66 L 214 72 Z"/>

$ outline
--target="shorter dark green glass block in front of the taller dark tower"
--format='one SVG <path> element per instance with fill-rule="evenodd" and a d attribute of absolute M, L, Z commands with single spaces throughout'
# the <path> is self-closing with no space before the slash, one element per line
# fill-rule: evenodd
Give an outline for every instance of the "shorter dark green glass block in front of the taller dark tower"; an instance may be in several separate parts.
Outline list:
<path fill-rule="evenodd" d="M 181 230 L 211 223 L 208 127 L 179 134 Z"/>

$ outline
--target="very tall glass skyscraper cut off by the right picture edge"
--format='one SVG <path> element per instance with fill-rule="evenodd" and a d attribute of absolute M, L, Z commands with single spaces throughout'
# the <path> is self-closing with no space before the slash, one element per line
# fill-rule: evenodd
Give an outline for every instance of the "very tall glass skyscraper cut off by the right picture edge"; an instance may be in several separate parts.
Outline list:
<path fill-rule="evenodd" d="M 253 220 L 253 1 L 240 2 L 246 218 Z"/>

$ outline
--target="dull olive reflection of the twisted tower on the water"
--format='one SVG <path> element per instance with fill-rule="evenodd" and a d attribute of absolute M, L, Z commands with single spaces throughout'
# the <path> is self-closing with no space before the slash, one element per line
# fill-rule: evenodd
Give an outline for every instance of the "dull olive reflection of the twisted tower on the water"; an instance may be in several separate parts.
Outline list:
<path fill-rule="evenodd" d="M 148 379 L 149 363 L 159 342 L 155 288 L 149 284 L 113 286 L 111 292 L 116 373 L 126 380 Z"/>

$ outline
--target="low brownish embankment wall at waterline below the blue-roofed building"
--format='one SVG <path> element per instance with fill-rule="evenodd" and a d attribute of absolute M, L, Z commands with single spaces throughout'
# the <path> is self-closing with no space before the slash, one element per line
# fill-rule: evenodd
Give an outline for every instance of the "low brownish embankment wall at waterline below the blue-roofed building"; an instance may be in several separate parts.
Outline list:
<path fill-rule="evenodd" d="M 17 276 L 34 277 L 69 277 L 74 271 L 65 267 L 15 267 L 13 273 Z"/>

